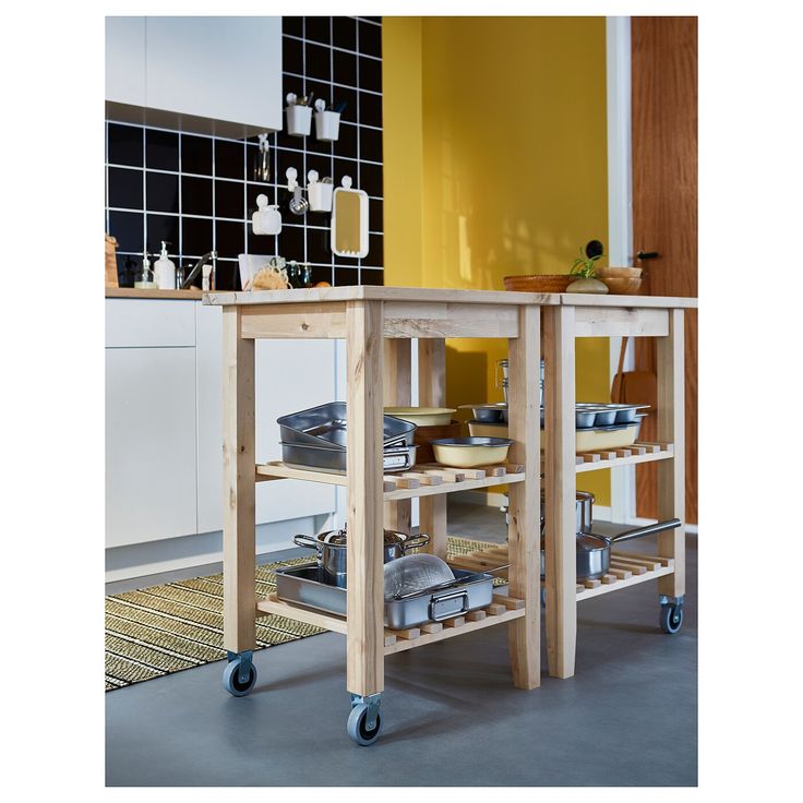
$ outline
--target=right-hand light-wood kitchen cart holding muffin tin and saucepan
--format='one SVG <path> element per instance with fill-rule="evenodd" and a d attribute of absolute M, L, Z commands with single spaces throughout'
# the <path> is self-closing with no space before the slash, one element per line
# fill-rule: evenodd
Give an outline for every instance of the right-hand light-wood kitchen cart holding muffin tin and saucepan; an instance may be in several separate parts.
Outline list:
<path fill-rule="evenodd" d="M 562 293 L 558 304 L 542 309 L 544 375 L 546 582 L 547 655 L 550 674 L 574 674 L 577 602 L 658 579 L 660 624 L 676 632 L 683 621 L 685 595 L 685 455 L 683 315 L 697 307 L 694 298 L 650 296 L 583 296 Z M 575 339 L 578 337 L 657 338 L 658 443 L 627 448 L 575 453 Z M 511 369 L 511 376 L 513 370 Z M 576 575 L 576 477 L 585 471 L 618 469 L 657 462 L 658 518 L 678 518 L 681 526 L 658 536 L 658 554 L 613 550 L 611 567 L 601 579 L 579 582 Z M 481 568 L 505 562 L 492 548 L 458 556 L 452 565 Z"/>

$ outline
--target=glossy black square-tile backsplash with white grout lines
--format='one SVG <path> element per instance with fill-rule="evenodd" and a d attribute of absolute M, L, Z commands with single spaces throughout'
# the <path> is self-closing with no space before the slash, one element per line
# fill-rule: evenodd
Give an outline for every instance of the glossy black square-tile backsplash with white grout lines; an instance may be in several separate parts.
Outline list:
<path fill-rule="evenodd" d="M 216 287 L 239 289 L 240 253 L 308 262 L 313 281 L 333 285 L 383 284 L 382 24 L 381 17 L 283 17 L 283 96 L 315 93 L 327 107 L 346 103 L 335 143 L 279 131 L 268 137 L 271 175 L 255 173 L 256 137 L 248 142 L 183 134 L 107 121 L 106 221 L 118 240 L 121 286 L 131 286 L 147 248 L 157 259 L 166 240 L 171 259 L 189 269 L 216 250 Z M 335 256 L 331 216 L 288 208 L 285 171 L 295 167 L 307 183 L 309 170 L 348 175 L 369 194 L 369 253 L 362 260 Z M 256 236 L 251 214 L 256 196 L 280 205 L 276 237 Z"/>

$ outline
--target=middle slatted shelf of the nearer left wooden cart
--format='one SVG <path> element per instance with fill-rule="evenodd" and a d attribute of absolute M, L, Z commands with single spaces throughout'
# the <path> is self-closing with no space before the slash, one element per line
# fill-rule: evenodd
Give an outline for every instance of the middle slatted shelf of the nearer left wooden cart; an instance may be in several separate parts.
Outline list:
<path fill-rule="evenodd" d="M 486 476 L 489 475 L 489 476 Z M 348 486 L 343 472 L 315 471 L 296 468 L 280 460 L 259 464 L 256 481 L 273 479 L 297 479 L 309 482 L 327 482 L 334 486 Z M 441 465 L 414 466 L 409 471 L 383 476 L 383 499 L 385 502 L 432 496 L 454 491 L 469 491 L 478 488 L 524 482 L 524 466 L 507 464 L 484 468 L 454 468 Z"/>

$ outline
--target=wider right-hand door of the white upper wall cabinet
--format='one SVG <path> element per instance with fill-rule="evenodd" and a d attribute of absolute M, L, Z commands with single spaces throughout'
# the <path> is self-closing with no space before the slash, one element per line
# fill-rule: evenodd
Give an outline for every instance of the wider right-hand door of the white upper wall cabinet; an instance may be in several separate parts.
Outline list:
<path fill-rule="evenodd" d="M 281 17 L 148 16 L 146 43 L 151 109 L 281 128 Z"/>

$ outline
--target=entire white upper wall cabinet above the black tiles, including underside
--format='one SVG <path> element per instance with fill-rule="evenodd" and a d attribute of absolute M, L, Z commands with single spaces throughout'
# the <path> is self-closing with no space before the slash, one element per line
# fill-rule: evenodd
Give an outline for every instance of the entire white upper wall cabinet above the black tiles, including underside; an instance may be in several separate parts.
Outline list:
<path fill-rule="evenodd" d="M 278 16 L 107 17 L 106 71 L 116 120 L 235 139 L 281 128 Z"/>

